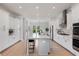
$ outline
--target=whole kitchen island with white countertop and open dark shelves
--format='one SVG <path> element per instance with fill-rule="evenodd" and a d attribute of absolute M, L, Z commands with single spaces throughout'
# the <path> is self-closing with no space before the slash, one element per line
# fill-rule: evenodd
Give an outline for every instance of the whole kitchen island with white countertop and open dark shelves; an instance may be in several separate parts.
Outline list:
<path fill-rule="evenodd" d="M 30 42 L 32 41 L 32 46 L 30 45 Z M 50 36 L 48 35 L 38 35 L 38 36 L 28 36 L 27 40 L 27 53 L 30 55 L 29 47 L 33 48 L 33 51 L 31 51 L 34 55 L 47 56 L 50 52 Z"/>

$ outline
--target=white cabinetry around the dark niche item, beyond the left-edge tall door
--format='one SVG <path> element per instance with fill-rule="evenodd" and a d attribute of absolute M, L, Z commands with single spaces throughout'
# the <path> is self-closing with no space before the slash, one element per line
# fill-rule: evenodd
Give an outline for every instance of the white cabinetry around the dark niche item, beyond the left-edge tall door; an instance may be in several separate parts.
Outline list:
<path fill-rule="evenodd" d="M 20 40 L 20 20 L 10 16 L 9 19 L 9 29 L 13 29 L 13 34 L 9 35 L 9 40 L 11 43 L 16 43 Z"/>

